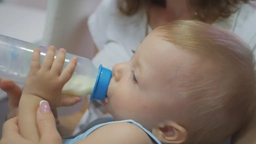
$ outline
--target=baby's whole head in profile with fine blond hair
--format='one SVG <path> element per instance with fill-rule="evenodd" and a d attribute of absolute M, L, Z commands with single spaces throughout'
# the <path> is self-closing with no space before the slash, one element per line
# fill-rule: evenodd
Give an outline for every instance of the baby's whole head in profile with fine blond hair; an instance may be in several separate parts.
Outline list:
<path fill-rule="evenodd" d="M 250 48 L 226 30 L 177 21 L 113 67 L 106 108 L 163 143 L 217 143 L 251 118 L 255 99 Z"/>

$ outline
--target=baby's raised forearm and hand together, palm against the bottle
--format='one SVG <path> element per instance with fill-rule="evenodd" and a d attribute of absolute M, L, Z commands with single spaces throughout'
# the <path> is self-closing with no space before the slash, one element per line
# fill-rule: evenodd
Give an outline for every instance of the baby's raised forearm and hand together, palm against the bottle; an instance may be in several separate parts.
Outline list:
<path fill-rule="evenodd" d="M 55 51 L 55 47 L 49 47 L 42 65 L 40 65 L 40 50 L 34 50 L 31 56 L 30 71 L 26 77 L 19 102 L 18 126 L 20 135 L 34 143 L 38 143 L 40 138 L 36 125 L 36 111 L 40 101 L 46 100 L 51 108 L 56 108 L 62 97 L 62 88 L 72 77 L 77 64 L 77 58 L 72 57 L 62 71 L 66 51 L 59 49 L 56 58 Z"/>

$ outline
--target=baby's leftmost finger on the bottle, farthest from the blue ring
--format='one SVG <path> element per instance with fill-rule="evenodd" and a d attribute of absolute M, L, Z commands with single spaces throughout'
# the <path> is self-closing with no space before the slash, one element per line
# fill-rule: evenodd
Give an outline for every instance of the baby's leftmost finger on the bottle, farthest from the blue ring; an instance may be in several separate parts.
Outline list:
<path fill-rule="evenodd" d="M 31 71 L 38 71 L 40 69 L 40 49 L 35 49 L 31 56 Z"/>

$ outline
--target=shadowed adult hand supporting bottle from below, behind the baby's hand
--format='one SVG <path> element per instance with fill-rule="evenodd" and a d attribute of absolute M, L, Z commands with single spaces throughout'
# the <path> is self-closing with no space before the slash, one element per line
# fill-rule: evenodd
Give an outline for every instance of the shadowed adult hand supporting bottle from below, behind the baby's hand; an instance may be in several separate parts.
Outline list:
<path fill-rule="evenodd" d="M 9 110 L 10 113 L 7 119 L 14 118 L 18 115 L 19 100 L 22 94 L 20 87 L 13 81 L 0 79 L 0 88 L 7 93 L 9 98 Z M 80 97 L 63 96 L 60 101 L 59 107 L 69 107 L 82 101 Z M 53 111 L 56 114 L 55 111 Z"/>

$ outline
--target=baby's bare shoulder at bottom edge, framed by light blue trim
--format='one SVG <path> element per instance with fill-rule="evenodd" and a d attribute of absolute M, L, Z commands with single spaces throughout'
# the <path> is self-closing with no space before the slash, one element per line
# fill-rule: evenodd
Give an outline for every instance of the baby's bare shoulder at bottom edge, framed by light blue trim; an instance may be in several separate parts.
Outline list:
<path fill-rule="evenodd" d="M 152 144 L 150 137 L 139 127 L 126 123 L 105 125 L 76 144 Z"/>

